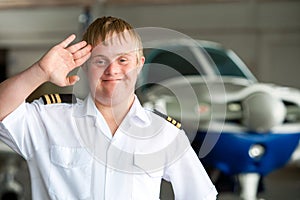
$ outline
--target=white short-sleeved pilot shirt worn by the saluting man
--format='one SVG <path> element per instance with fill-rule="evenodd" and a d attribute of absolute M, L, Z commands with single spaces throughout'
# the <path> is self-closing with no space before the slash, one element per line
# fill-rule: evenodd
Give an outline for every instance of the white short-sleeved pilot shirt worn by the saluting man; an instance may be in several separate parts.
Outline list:
<path fill-rule="evenodd" d="M 162 178 L 178 200 L 217 196 L 184 131 L 137 98 L 114 136 L 89 95 L 23 103 L 0 123 L 0 138 L 26 159 L 34 200 L 157 200 Z"/>

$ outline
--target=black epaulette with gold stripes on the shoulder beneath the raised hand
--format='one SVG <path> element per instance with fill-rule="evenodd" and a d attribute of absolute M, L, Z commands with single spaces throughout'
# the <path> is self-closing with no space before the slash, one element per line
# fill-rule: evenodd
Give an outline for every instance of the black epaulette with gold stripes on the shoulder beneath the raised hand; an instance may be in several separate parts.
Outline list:
<path fill-rule="evenodd" d="M 74 94 L 45 94 L 42 96 L 44 104 L 77 103 Z"/>

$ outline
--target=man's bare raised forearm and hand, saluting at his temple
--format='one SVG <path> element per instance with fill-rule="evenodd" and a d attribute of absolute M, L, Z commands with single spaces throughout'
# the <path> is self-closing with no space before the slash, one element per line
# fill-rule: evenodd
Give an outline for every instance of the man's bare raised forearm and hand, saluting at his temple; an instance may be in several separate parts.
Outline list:
<path fill-rule="evenodd" d="M 90 57 L 91 46 L 84 41 L 69 46 L 74 39 L 75 35 L 69 36 L 31 67 L 0 84 L 0 121 L 43 83 L 50 81 L 61 87 L 76 83 L 79 77 L 68 74 Z"/>

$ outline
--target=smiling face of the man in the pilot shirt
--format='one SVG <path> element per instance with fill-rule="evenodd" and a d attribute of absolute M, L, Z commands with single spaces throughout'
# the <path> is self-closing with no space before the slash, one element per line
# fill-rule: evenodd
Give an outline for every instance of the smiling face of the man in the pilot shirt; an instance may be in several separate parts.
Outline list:
<path fill-rule="evenodd" d="M 104 43 L 92 50 L 88 61 L 87 76 L 92 96 L 97 103 L 114 105 L 130 101 L 134 96 L 134 87 L 145 58 L 137 58 L 136 42 L 125 33 L 113 34 Z"/>

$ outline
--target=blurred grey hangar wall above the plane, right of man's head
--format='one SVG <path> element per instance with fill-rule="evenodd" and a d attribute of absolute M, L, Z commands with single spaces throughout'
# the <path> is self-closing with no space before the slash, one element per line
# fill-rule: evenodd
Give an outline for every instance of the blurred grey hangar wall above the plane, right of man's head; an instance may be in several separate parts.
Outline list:
<path fill-rule="evenodd" d="M 300 2 L 232 1 L 173 6 L 110 6 L 136 27 L 158 26 L 232 48 L 260 81 L 300 88 Z"/>

